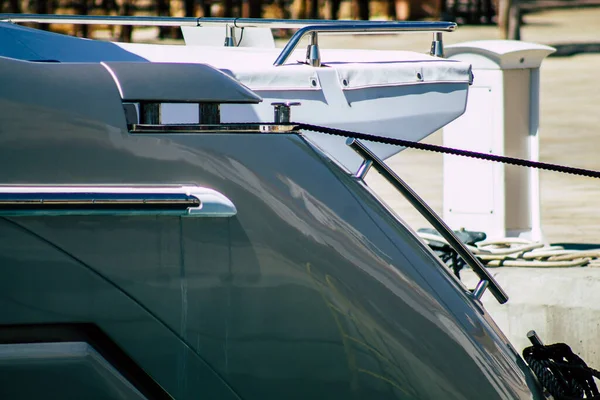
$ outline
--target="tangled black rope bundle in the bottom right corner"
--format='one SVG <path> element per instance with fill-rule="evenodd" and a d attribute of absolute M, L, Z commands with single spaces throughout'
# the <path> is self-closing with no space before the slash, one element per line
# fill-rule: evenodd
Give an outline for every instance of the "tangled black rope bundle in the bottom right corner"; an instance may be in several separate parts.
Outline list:
<path fill-rule="evenodd" d="M 588 365 L 564 343 L 530 346 L 523 358 L 541 385 L 557 400 L 600 400 L 594 377 L 600 372 Z"/>

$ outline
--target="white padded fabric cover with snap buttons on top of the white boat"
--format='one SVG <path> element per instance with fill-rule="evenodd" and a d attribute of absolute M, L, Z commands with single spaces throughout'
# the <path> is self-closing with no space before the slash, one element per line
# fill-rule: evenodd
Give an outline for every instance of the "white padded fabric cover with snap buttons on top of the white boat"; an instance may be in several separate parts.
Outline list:
<path fill-rule="evenodd" d="M 321 89 L 318 81 L 317 86 L 311 82 L 316 77 L 315 69 L 298 63 L 298 60 L 304 59 L 304 49 L 296 50 L 286 65 L 275 67 L 273 62 L 281 49 L 117 45 L 154 62 L 209 63 L 230 70 L 253 90 Z M 321 58 L 323 65 L 338 72 L 340 86 L 344 90 L 422 83 L 469 83 L 471 79 L 469 64 L 409 51 L 321 49 Z"/>

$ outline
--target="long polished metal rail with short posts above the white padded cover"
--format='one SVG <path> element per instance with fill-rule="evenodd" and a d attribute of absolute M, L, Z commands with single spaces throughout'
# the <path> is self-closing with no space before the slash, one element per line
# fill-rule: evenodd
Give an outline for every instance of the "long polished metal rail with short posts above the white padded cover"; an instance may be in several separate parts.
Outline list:
<path fill-rule="evenodd" d="M 294 20 L 262 18 L 195 18 L 195 17 L 149 17 L 149 16 L 97 16 L 97 15 L 43 15 L 43 14 L 0 14 L 0 21 L 12 23 L 46 23 L 76 25 L 129 25 L 129 26 L 223 26 L 225 46 L 237 46 L 235 28 L 298 29 L 283 48 L 275 66 L 285 64 L 304 36 L 309 36 L 306 63 L 321 66 L 318 34 L 328 33 L 399 33 L 433 32 L 430 54 L 444 56 L 442 33 L 456 29 L 453 22 L 411 21 L 348 21 L 348 20 Z"/>

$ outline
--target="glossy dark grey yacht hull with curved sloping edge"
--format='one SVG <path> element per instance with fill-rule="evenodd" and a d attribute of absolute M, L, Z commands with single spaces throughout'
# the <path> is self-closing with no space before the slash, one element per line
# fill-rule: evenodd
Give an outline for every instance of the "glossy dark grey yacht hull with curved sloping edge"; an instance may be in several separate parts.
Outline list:
<path fill-rule="evenodd" d="M 2 399 L 542 398 L 481 305 L 300 134 L 131 133 L 114 86 L 11 79 L 1 185 L 198 185 L 237 213 L 4 215 Z"/>

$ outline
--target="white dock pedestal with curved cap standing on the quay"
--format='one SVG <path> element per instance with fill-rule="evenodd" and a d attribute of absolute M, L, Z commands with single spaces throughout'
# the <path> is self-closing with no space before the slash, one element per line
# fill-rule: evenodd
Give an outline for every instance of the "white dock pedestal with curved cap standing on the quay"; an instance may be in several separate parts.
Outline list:
<path fill-rule="evenodd" d="M 539 68 L 555 49 L 486 40 L 445 51 L 472 64 L 474 82 L 465 113 L 444 127 L 444 146 L 537 161 Z M 443 204 L 453 229 L 542 240 L 536 169 L 444 155 Z"/>

